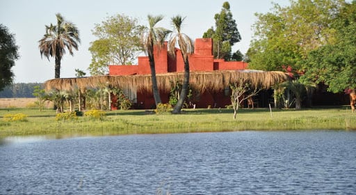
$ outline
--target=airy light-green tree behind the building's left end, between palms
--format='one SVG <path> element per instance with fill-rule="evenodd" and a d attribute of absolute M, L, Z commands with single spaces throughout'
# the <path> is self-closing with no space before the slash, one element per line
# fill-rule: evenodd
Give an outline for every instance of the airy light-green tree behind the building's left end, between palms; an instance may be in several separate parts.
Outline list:
<path fill-rule="evenodd" d="M 108 65 L 130 65 L 142 50 L 140 35 L 143 26 L 135 18 L 126 15 L 106 17 L 101 24 L 95 24 L 92 34 L 97 40 L 91 42 L 89 51 L 92 63 L 91 75 L 105 75 Z"/>

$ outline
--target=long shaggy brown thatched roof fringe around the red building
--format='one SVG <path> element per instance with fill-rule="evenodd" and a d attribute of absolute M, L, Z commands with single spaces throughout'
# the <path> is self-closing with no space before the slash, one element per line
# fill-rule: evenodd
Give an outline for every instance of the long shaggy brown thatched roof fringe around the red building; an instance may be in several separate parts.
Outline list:
<path fill-rule="evenodd" d="M 175 82 L 183 81 L 184 72 L 166 73 L 156 75 L 157 84 L 163 91 L 170 91 Z M 248 82 L 254 87 L 270 88 L 271 86 L 286 81 L 288 76 L 279 71 L 259 70 L 223 70 L 213 72 L 191 72 L 190 86 L 199 91 L 219 91 L 229 84 Z M 152 91 L 151 75 L 128 76 L 92 76 L 83 78 L 51 79 L 44 83 L 46 90 L 58 89 L 70 91 L 74 88 L 96 88 L 99 86 L 116 86 L 130 88 L 133 91 Z"/>

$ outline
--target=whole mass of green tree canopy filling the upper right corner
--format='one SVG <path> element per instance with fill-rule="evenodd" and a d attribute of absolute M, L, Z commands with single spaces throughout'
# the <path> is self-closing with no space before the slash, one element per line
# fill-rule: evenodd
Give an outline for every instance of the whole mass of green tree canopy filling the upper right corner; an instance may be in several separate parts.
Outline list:
<path fill-rule="evenodd" d="M 303 84 L 338 93 L 356 88 L 356 1 L 291 0 L 257 14 L 250 68 L 296 70 Z"/>

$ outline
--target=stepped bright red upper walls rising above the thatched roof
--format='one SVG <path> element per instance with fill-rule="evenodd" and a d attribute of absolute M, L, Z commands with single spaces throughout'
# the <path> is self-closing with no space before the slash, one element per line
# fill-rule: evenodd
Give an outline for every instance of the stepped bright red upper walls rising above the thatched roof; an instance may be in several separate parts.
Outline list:
<path fill-rule="evenodd" d="M 154 50 L 156 74 L 167 72 L 184 72 L 184 61 L 180 49 L 176 49 L 176 58 L 168 55 L 167 42 L 161 49 Z M 213 40 L 211 38 L 197 38 L 194 54 L 189 56 L 191 71 L 213 70 L 244 70 L 248 63 L 243 61 L 224 61 L 213 59 Z M 138 57 L 138 65 L 109 65 L 109 75 L 149 75 L 149 60 L 147 56 Z"/>

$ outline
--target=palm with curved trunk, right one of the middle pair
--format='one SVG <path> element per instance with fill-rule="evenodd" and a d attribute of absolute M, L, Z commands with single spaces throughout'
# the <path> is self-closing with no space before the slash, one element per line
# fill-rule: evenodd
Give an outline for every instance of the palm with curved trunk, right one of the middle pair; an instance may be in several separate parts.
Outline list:
<path fill-rule="evenodd" d="M 172 35 L 168 42 L 168 51 L 172 56 L 175 56 L 175 45 L 179 45 L 181 49 L 181 56 L 184 60 L 184 80 L 183 85 L 181 86 L 181 93 L 179 95 L 179 100 L 175 104 L 173 109 L 173 114 L 179 114 L 181 112 L 181 107 L 183 107 L 184 100 L 188 94 L 189 86 L 189 61 L 188 56 L 194 52 L 193 40 L 189 38 L 186 34 L 181 33 L 181 24 L 183 23 L 185 17 L 179 15 L 172 17 L 172 25 L 176 32 Z"/>

